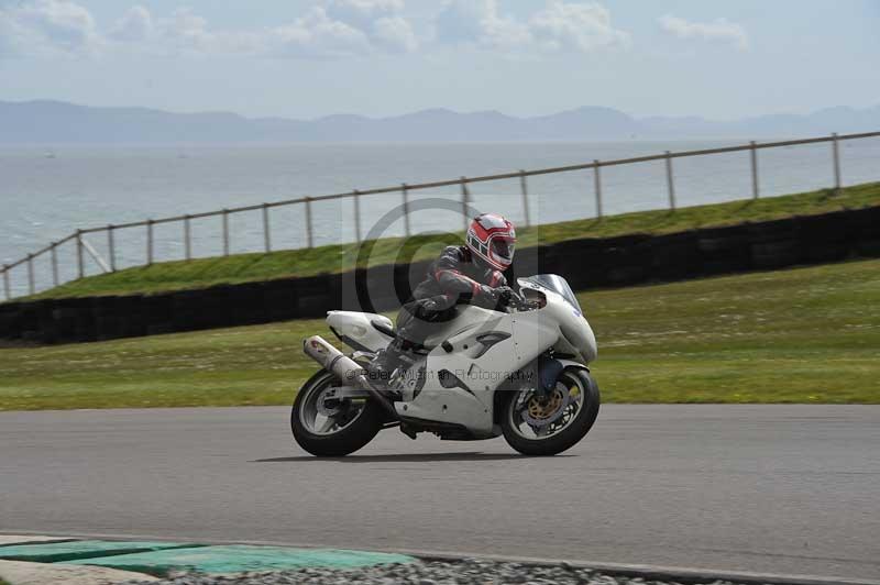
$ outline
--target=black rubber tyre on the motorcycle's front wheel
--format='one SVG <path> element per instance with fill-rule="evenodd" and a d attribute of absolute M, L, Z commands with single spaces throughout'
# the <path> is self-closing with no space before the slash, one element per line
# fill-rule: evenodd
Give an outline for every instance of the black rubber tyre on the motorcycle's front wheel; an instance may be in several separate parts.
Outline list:
<path fill-rule="evenodd" d="M 598 416 L 601 402 L 598 385 L 593 379 L 593 376 L 591 376 L 586 369 L 582 368 L 564 369 L 560 374 L 560 380 L 563 380 L 563 378 L 566 378 L 566 382 L 578 384 L 580 390 L 584 393 L 583 405 L 575 415 L 574 420 L 557 434 L 543 439 L 528 439 L 522 437 L 514 428 L 510 412 L 510 410 L 515 408 L 517 397 L 520 393 L 510 393 L 510 397 L 504 402 L 501 421 L 504 439 L 507 441 L 507 444 L 524 455 L 549 456 L 571 449 L 590 432 L 590 429 L 593 428 L 593 423 Z"/>

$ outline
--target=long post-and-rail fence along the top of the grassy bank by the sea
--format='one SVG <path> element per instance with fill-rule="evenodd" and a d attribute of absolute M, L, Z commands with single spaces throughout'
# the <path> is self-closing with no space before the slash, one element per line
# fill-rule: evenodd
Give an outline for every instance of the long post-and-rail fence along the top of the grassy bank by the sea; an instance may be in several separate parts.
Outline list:
<path fill-rule="evenodd" d="M 575 165 L 566 165 L 566 166 L 557 166 L 557 167 L 548 167 L 548 168 L 538 168 L 531 170 L 516 170 L 512 173 L 503 173 L 496 175 L 483 175 L 483 176 L 475 176 L 475 177 L 459 177 L 455 179 L 448 179 L 448 180 L 439 180 L 439 181 L 431 181 L 431 183 L 418 183 L 418 184 L 400 184 L 394 187 L 382 187 L 382 188 L 374 188 L 374 189 L 363 189 L 363 190 L 352 190 L 346 192 L 339 192 L 332 195 L 322 195 L 316 197 L 301 197 L 296 199 L 286 199 L 280 201 L 274 202 L 265 202 L 258 205 L 250 205 L 243 207 L 235 207 L 235 208 L 227 208 L 220 209 L 215 211 L 206 211 L 200 213 L 191 213 L 191 214 L 183 214 L 183 216 L 174 216 L 174 217 L 166 217 L 166 218 L 158 218 L 158 219 L 147 219 L 143 221 L 134 221 L 128 223 L 119 223 L 119 224 L 109 224 L 103 227 L 96 227 L 96 228 L 86 228 L 76 230 L 74 233 L 63 238 L 62 240 L 52 242 L 51 244 L 44 246 L 43 249 L 28 254 L 25 257 L 13 262 L 11 264 L 7 264 L 2 266 L 0 269 L 0 274 L 2 274 L 2 287 L 3 294 L 7 300 L 13 298 L 13 289 L 12 289 L 12 276 L 13 271 L 15 271 L 14 275 L 21 278 L 24 277 L 26 282 L 26 287 L 16 287 L 23 290 L 26 290 L 28 294 L 34 295 L 38 291 L 37 286 L 37 278 L 36 278 L 36 271 L 37 271 L 37 261 L 42 260 L 42 268 L 44 271 L 44 278 L 41 278 L 41 284 L 45 283 L 45 287 L 55 287 L 65 282 L 82 278 L 88 274 L 87 272 L 87 262 L 91 261 L 92 265 L 98 268 L 101 273 L 112 273 L 116 272 L 119 266 L 119 255 L 118 255 L 118 243 L 119 243 L 119 235 L 121 231 L 125 231 L 127 233 L 132 230 L 143 230 L 144 234 L 144 250 L 143 250 L 143 265 L 152 265 L 153 263 L 160 261 L 161 258 L 157 257 L 156 254 L 156 231 L 158 229 L 165 230 L 169 225 L 175 227 L 176 235 L 165 233 L 166 238 L 173 239 L 175 243 L 178 243 L 182 247 L 183 258 L 185 261 L 190 261 L 195 257 L 202 257 L 202 255 L 197 254 L 194 250 L 194 238 L 193 238 L 193 224 L 198 220 L 205 220 L 208 218 L 219 219 L 219 225 L 217 229 L 220 231 L 220 241 L 222 243 L 220 253 L 223 256 L 229 256 L 231 252 L 231 240 L 232 240 L 232 228 L 230 225 L 230 218 L 233 216 L 239 216 L 243 213 L 257 213 L 260 217 L 260 229 L 262 231 L 262 252 L 272 252 L 275 250 L 273 246 L 273 232 L 272 232 L 272 214 L 274 210 L 278 210 L 279 208 L 292 208 L 295 212 L 298 211 L 297 214 L 301 216 L 301 225 L 305 230 L 305 245 L 306 247 L 314 247 L 316 245 L 317 234 L 316 234 L 316 225 L 314 221 L 314 207 L 317 203 L 323 201 L 332 201 L 332 200 L 345 200 L 350 199 L 353 203 L 353 236 L 354 242 L 361 242 L 364 238 L 364 225 L 363 225 L 363 218 L 362 218 L 362 200 L 364 197 L 375 196 L 375 195 L 393 195 L 397 194 L 399 196 L 399 205 L 403 209 L 403 220 L 404 220 L 404 235 L 410 236 L 414 232 L 414 227 L 410 222 L 410 213 L 409 213 L 409 203 L 410 203 L 410 194 L 413 191 L 418 190 L 430 190 L 430 189 L 438 189 L 438 188 L 449 188 L 454 187 L 459 191 L 461 209 L 464 218 L 464 223 L 462 228 L 466 229 L 469 217 L 466 210 L 469 209 L 469 205 L 471 203 L 471 191 L 472 185 L 475 184 L 485 184 L 488 181 L 509 181 L 514 180 L 518 184 L 518 190 L 520 196 L 520 205 L 521 205 L 521 217 L 524 218 L 526 227 L 529 227 L 534 223 L 532 213 L 530 211 L 530 198 L 534 195 L 529 192 L 529 177 L 537 177 L 541 175 L 553 175 L 553 174 L 562 174 L 562 173 L 574 173 L 574 172 L 582 172 L 582 170 L 592 170 L 593 180 L 592 180 L 592 190 L 594 197 L 594 217 L 602 218 L 604 214 L 604 202 L 606 201 L 608 195 L 608 185 L 607 180 L 603 179 L 603 168 L 607 167 L 618 167 L 624 165 L 639 165 L 650 162 L 662 162 L 663 164 L 663 174 L 664 174 L 664 190 L 667 195 L 666 200 L 666 208 L 669 210 L 674 211 L 676 207 L 679 207 L 679 194 L 676 192 L 676 180 L 675 180 L 675 163 L 674 161 L 678 158 L 690 158 L 690 157 L 701 157 L 701 156 L 710 156 L 710 155 L 722 155 L 722 154 L 729 154 L 729 153 L 747 153 L 747 168 L 750 178 L 751 185 L 751 198 L 757 199 L 761 196 L 761 174 L 760 174 L 760 157 L 759 151 L 768 150 L 768 148 L 780 148 L 780 147 L 790 147 L 790 146 L 798 146 L 798 145 L 806 145 L 806 144 L 820 144 L 820 143 L 829 143 L 831 144 L 831 156 L 829 156 L 829 178 L 832 180 L 833 188 L 836 191 L 839 191 L 842 188 L 842 170 L 840 170 L 840 142 L 843 141 L 854 141 L 860 139 L 869 139 L 869 137 L 877 137 L 880 136 L 880 132 L 865 132 L 858 134 L 832 134 L 829 136 L 818 136 L 818 137 L 811 137 L 811 139 L 801 139 L 801 140 L 787 140 L 787 141 L 778 141 L 778 142 L 749 142 L 748 144 L 739 144 L 735 146 L 724 146 L 724 147 L 713 147 L 713 148 L 702 148 L 702 150 L 691 150 L 691 151 L 680 151 L 680 152 L 664 152 L 662 154 L 652 154 L 652 155 L 645 155 L 645 156 L 635 156 L 628 158 L 618 158 L 618 159 L 609 159 L 609 161 L 592 161 L 590 163 L 582 163 Z M 657 180 L 659 177 L 654 177 L 652 180 Z M 575 219 L 575 218 L 572 218 Z M 537 222 L 535 222 L 537 223 Z M 106 251 L 106 256 L 102 256 L 98 250 L 92 245 L 92 243 L 87 240 L 86 236 L 92 236 L 99 234 L 99 238 L 105 240 L 106 244 L 102 244 L 101 247 Z M 62 246 L 65 245 L 73 245 L 74 247 L 74 258 L 73 262 L 73 269 L 62 271 L 62 266 L 59 263 L 59 250 Z M 251 252 L 256 252 L 257 250 L 251 250 Z M 238 251 L 235 252 L 238 253 Z M 48 261 L 46 265 L 46 260 Z M 168 258 L 165 258 L 168 260 Z M 175 258 L 180 260 L 180 258 Z M 22 275 L 22 273 L 24 273 Z M 47 275 L 45 274 L 47 273 Z M 45 288 L 44 287 L 44 288 Z"/>

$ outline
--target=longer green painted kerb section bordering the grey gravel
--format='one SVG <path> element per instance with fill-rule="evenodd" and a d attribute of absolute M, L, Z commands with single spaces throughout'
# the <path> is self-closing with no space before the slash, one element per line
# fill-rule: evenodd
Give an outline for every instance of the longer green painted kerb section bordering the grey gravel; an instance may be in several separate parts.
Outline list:
<path fill-rule="evenodd" d="M 409 563 L 404 554 L 332 549 L 287 549 L 280 547 L 224 545 L 156 550 L 102 559 L 81 559 L 66 564 L 98 565 L 166 576 L 170 571 L 199 573 L 245 573 L 301 567 L 346 569 L 391 563 Z"/>

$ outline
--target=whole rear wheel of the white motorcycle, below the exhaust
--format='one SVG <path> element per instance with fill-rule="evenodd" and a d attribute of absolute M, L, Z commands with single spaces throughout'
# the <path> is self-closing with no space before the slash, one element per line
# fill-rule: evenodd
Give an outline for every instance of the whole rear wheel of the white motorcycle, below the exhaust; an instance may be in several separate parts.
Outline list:
<path fill-rule="evenodd" d="M 290 411 L 296 442 L 319 457 L 354 453 L 382 430 L 382 407 L 369 398 L 333 399 L 329 390 L 339 378 L 320 371 L 299 389 Z"/>

